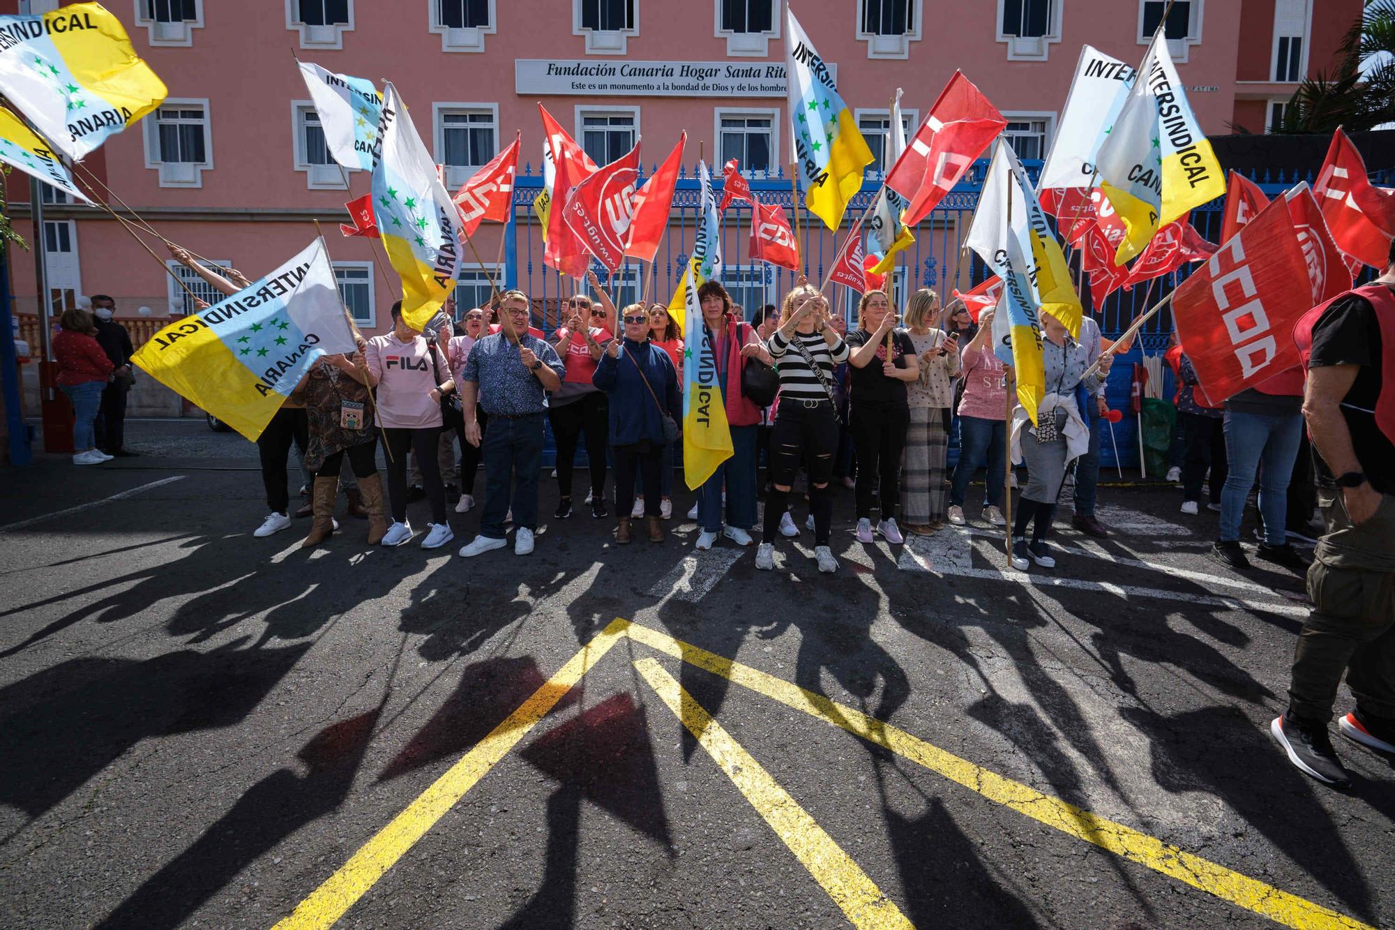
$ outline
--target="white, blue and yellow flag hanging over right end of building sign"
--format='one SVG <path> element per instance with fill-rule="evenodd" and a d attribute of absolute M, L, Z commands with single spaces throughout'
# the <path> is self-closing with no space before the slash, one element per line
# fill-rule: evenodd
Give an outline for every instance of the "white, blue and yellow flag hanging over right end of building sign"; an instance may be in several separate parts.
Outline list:
<path fill-rule="evenodd" d="M 833 71 L 788 7 L 785 80 L 792 161 L 804 182 L 804 204 L 829 229 L 837 229 L 848 201 L 862 187 L 862 169 L 872 163 L 872 149 L 838 96 Z"/>

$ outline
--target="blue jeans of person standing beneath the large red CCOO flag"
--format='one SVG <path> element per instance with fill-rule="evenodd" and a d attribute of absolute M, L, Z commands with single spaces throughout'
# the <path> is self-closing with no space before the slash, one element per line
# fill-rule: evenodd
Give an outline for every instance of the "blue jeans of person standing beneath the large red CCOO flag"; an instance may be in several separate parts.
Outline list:
<path fill-rule="evenodd" d="M 1240 521 L 1256 472 L 1260 473 L 1264 542 L 1282 546 L 1288 540 L 1289 476 L 1302 440 L 1302 413 L 1225 412 L 1225 454 L 1230 473 L 1221 490 L 1221 542 L 1240 539 Z"/>

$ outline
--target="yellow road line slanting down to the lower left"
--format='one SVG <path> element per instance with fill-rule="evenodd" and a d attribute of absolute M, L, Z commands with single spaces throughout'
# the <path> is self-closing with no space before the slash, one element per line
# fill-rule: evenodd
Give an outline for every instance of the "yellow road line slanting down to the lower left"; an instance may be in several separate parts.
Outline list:
<path fill-rule="evenodd" d="M 601 630 L 529 700 L 364 843 L 339 871 L 301 901 L 276 930 L 328 927 L 421 839 L 467 790 L 484 778 L 625 634 L 622 620 Z"/>

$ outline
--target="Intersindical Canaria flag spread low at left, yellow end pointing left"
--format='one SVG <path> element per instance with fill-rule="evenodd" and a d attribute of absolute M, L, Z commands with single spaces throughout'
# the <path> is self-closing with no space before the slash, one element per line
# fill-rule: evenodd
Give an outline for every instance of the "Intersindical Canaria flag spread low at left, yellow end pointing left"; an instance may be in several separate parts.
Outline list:
<path fill-rule="evenodd" d="M 356 350 L 317 237 L 261 281 L 169 324 L 131 360 L 255 441 L 321 356 Z"/>

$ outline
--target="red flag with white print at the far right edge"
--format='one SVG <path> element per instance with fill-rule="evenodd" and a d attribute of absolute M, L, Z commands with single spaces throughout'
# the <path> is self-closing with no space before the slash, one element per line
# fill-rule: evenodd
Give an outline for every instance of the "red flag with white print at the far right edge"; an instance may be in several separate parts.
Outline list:
<path fill-rule="evenodd" d="M 1395 191 L 1371 184 L 1366 161 L 1342 130 L 1332 133 L 1313 195 L 1338 249 L 1377 268 L 1388 264 L 1395 236 Z"/>

